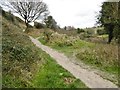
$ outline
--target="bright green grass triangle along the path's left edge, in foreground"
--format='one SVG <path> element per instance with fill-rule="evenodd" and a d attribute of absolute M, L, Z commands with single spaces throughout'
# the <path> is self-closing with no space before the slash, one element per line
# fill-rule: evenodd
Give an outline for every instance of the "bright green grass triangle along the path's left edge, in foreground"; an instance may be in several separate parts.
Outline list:
<path fill-rule="evenodd" d="M 59 66 L 49 55 L 33 79 L 36 88 L 87 88 L 80 80 Z"/>

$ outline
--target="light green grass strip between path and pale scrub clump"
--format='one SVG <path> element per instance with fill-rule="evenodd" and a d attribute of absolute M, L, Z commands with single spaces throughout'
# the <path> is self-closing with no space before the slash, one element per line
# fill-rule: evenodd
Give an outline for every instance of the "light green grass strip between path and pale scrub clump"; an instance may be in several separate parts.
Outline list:
<path fill-rule="evenodd" d="M 63 45 L 61 45 L 61 46 L 58 45 L 58 43 L 54 43 L 54 44 L 45 43 L 45 40 L 42 39 L 42 38 L 40 38 L 39 41 L 44 45 L 48 45 L 51 48 L 54 48 L 54 49 L 56 49 L 60 52 L 65 53 L 67 56 L 72 55 L 74 52 L 78 52 L 80 49 L 93 48 L 95 46 L 94 43 L 86 42 L 86 41 L 83 41 L 83 40 L 75 41 L 75 42 L 73 42 L 73 44 L 71 46 L 68 46 L 64 43 L 62 43 Z"/>

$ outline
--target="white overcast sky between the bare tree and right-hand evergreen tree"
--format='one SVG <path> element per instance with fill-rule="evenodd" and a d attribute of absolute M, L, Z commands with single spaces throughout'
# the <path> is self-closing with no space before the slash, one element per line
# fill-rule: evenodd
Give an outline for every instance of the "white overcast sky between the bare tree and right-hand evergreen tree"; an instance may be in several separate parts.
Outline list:
<path fill-rule="evenodd" d="M 92 27 L 105 0 L 43 0 L 58 25 Z"/>

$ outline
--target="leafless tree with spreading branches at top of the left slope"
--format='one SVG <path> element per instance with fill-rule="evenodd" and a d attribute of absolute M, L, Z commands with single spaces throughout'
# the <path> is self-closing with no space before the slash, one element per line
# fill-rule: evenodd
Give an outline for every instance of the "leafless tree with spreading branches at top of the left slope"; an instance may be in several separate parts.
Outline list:
<path fill-rule="evenodd" d="M 6 4 L 15 13 L 18 13 L 24 20 L 28 28 L 30 22 L 34 22 L 41 14 L 48 12 L 47 5 L 41 0 L 15 1 Z M 26 28 L 26 30 L 27 30 Z"/>

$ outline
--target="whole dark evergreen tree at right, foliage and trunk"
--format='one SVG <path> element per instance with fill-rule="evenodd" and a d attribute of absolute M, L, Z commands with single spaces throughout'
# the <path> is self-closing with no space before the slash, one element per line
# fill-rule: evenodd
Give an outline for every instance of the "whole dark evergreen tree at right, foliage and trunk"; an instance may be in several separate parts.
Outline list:
<path fill-rule="evenodd" d="M 98 23 L 104 26 L 105 30 L 108 31 L 108 43 L 111 42 L 113 37 L 118 38 L 118 24 L 120 18 L 118 14 L 119 5 L 118 2 L 104 2 L 98 17 Z"/>

